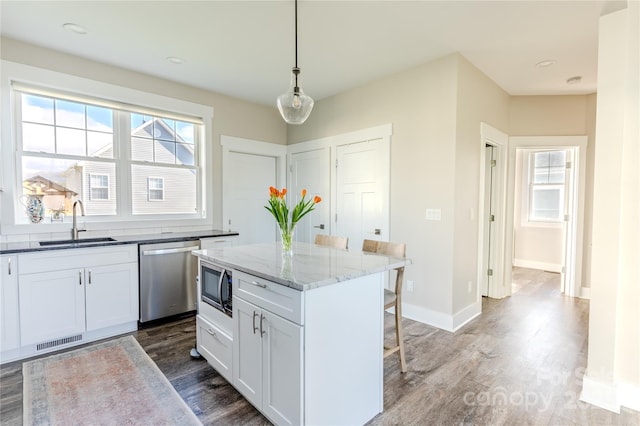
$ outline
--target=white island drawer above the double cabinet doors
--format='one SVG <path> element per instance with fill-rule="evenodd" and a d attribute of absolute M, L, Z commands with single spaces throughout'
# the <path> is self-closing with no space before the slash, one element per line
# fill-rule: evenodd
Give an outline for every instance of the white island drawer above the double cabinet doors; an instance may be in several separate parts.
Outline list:
<path fill-rule="evenodd" d="M 233 294 L 262 309 L 303 325 L 301 291 L 263 278 L 233 271 Z"/>

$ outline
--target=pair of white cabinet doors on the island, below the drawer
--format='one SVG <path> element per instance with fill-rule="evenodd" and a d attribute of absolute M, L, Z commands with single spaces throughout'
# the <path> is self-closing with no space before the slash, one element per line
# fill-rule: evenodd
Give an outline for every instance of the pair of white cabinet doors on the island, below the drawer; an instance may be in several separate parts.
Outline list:
<path fill-rule="evenodd" d="M 302 423 L 302 326 L 233 301 L 233 382 L 276 424 Z"/>

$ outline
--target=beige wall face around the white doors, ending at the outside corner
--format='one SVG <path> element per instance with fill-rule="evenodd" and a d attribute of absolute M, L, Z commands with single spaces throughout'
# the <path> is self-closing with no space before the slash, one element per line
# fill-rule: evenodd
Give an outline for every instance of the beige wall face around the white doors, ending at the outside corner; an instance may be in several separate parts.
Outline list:
<path fill-rule="evenodd" d="M 290 126 L 296 143 L 392 123 L 390 239 L 407 243 L 413 265 L 409 304 L 452 311 L 457 55 L 317 102 L 307 122 Z M 426 208 L 442 221 L 425 221 Z M 405 310 L 406 312 L 406 310 Z"/>

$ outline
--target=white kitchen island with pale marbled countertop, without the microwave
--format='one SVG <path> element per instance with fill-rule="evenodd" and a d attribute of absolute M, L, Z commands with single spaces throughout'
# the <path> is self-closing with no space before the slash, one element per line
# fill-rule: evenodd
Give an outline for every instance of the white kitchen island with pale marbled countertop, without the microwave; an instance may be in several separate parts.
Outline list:
<path fill-rule="evenodd" d="M 385 275 L 410 260 L 303 243 L 291 257 L 278 243 L 194 254 L 233 277 L 230 327 L 198 298 L 198 349 L 269 420 L 355 425 L 382 412 Z"/>

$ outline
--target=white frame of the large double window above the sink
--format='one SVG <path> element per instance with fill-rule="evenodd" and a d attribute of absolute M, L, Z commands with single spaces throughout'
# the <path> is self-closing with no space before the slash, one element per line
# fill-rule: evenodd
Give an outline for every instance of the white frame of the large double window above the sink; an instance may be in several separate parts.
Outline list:
<path fill-rule="evenodd" d="M 200 153 L 196 157 L 198 159 L 196 167 L 198 167 L 199 170 L 196 182 L 198 200 L 196 203 L 196 211 L 193 214 L 133 215 L 130 213 L 130 208 L 128 212 L 125 212 L 123 211 L 123 207 L 131 205 L 131 196 L 128 194 L 129 191 L 127 191 L 127 188 L 130 187 L 130 182 L 125 179 L 118 179 L 116 182 L 116 192 L 119 194 L 116 197 L 118 215 L 86 216 L 83 218 L 83 221 L 91 224 L 88 226 L 94 230 L 113 229 L 114 223 L 117 223 L 118 229 L 154 228 L 158 226 L 211 226 L 212 219 L 208 215 L 208 212 L 212 209 L 212 200 L 211 197 L 207 196 L 207 192 L 210 192 L 210 190 L 205 190 L 205 185 L 207 182 L 213 180 L 212 159 L 209 158 L 210 155 L 207 155 L 206 148 L 210 145 L 212 139 L 212 107 L 5 60 L 1 61 L 0 66 L 2 71 L 0 73 L 0 117 L 2 120 L 1 143 L 3 145 L 3 152 L 15 153 L 19 148 L 19 138 L 15 132 L 18 123 L 15 120 L 14 102 L 16 99 L 14 99 L 15 96 L 12 90 L 13 82 L 39 86 L 53 92 L 73 93 L 84 99 L 100 99 L 107 103 L 114 102 L 120 105 L 139 105 L 148 108 L 151 114 L 167 118 L 180 119 L 185 116 L 201 118 L 203 124 L 199 126 L 197 136 L 200 140 L 198 147 Z M 118 131 L 126 130 L 127 129 L 119 129 Z M 114 132 L 115 131 L 116 129 L 114 129 Z M 122 150 L 123 148 L 124 147 L 117 143 L 114 145 L 114 151 Z M 130 162 L 128 164 L 121 164 L 121 162 L 122 160 L 118 160 L 116 167 L 128 167 L 130 164 Z M 23 214 L 24 208 L 17 201 L 22 193 L 21 164 L 16 161 L 16 157 L 12 155 L 3 156 L 3 158 L 0 159 L 0 165 L 2 166 L 0 173 L 2 173 L 2 181 L 4 183 L 3 192 L 5 197 L 3 198 L 6 200 L 15 200 L 13 203 L 6 202 L 0 205 L 0 213 L 2 216 L 0 225 L 2 226 L 3 234 L 58 232 L 66 230 L 68 225 L 65 224 L 44 222 L 31 224 L 25 221 Z M 20 178 L 18 176 L 20 176 Z M 120 196 L 120 194 L 124 194 L 124 196 Z M 69 220 L 70 218 L 65 217 L 66 222 Z"/>

